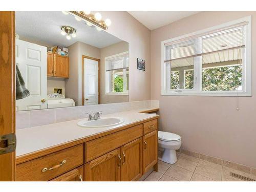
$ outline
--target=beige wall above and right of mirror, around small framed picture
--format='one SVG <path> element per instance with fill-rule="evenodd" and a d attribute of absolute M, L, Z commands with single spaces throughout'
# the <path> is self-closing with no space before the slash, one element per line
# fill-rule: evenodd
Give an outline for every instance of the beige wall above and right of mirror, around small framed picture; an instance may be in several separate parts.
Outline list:
<path fill-rule="evenodd" d="M 100 11 L 102 18 L 110 18 L 107 30 L 129 43 L 129 101 L 150 99 L 150 30 L 126 11 Z M 145 59 L 146 71 L 137 69 L 137 58 Z"/>

